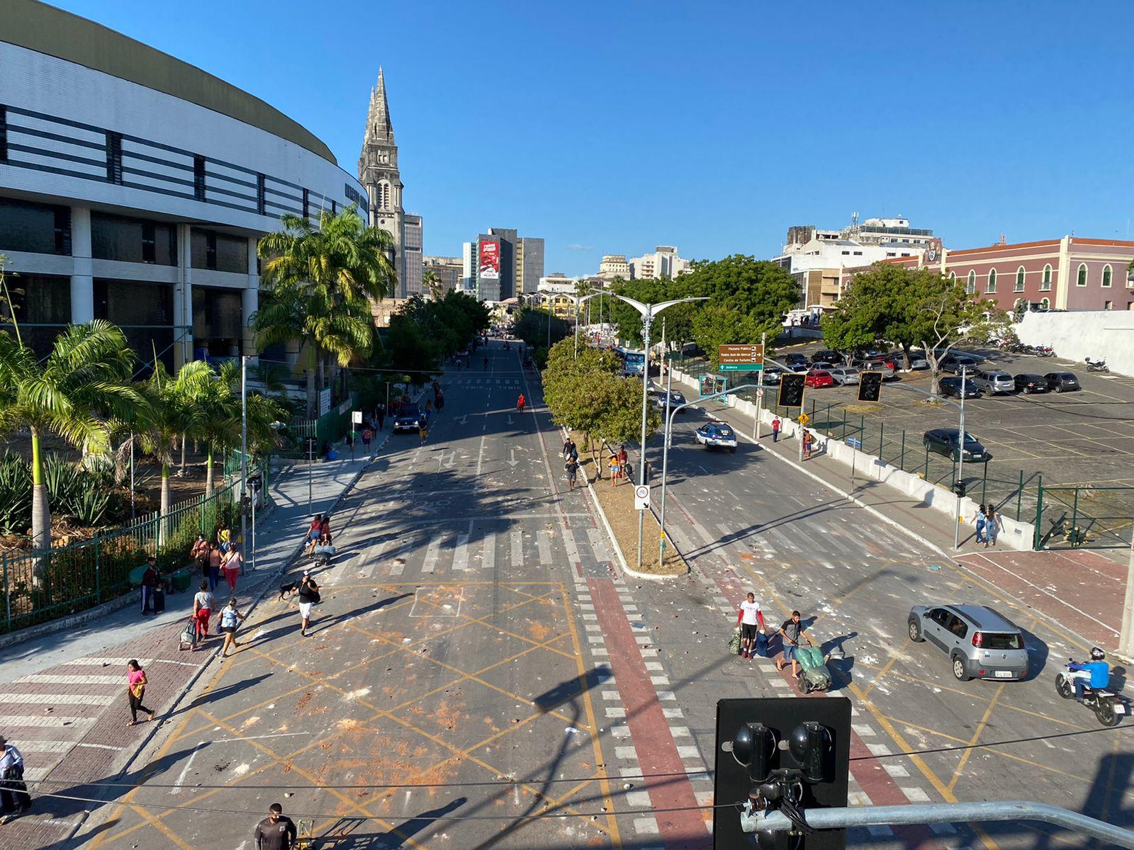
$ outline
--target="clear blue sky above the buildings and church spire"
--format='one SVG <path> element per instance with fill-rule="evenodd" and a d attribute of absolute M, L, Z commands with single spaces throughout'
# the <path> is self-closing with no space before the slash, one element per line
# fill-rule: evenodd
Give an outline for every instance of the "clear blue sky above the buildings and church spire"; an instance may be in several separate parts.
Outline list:
<path fill-rule="evenodd" d="M 352 173 L 382 65 L 429 254 L 496 226 L 544 237 L 548 272 L 768 257 L 854 211 L 954 248 L 1131 232 L 1129 2 L 58 5 L 262 97 Z"/>

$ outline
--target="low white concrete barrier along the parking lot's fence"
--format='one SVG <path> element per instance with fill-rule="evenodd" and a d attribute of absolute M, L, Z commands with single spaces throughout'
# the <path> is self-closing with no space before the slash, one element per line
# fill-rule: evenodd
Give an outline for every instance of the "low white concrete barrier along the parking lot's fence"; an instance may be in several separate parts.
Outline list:
<path fill-rule="evenodd" d="M 686 375 L 678 369 L 674 369 L 674 381 L 692 386 L 694 390 L 699 389 L 695 377 Z M 756 414 L 755 403 L 746 399 L 736 398 L 735 396 L 729 396 L 728 406 L 737 413 L 748 417 L 754 417 Z M 770 426 L 771 420 L 776 418 L 775 414 L 767 408 L 761 408 L 760 413 L 761 420 Z M 782 417 L 780 417 L 780 439 L 790 440 L 799 436 L 802 426 L 798 423 Z M 915 473 L 904 471 L 896 466 L 887 464 L 875 454 L 869 454 L 858 449 L 853 449 L 846 443 L 828 436 L 821 431 L 816 431 L 815 428 L 807 430 L 815 440 L 815 450 L 822 452 L 832 460 L 845 464 L 848 476 L 850 474 L 850 464 L 853 460 L 856 476 L 861 475 L 864 479 L 873 479 L 889 487 L 894 487 L 895 490 L 917 500 L 924 507 L 940 511 L 950 518 L 955 516 L 955 511 L 957 509 L 957 498 L 949 488 L 932 484 Z M 976 513 L 976 502 L 967 496 L 960 500 L 960 517 L 966 526 L 973 525 L 972 520 Z M 1032 549 L 1033 536 L 1034 526 L 1031 522 L 1021 522 L 1000 515 L 1000 532 L 997 537 L 997 542 L 999 544 L 1024 552 Z"/>

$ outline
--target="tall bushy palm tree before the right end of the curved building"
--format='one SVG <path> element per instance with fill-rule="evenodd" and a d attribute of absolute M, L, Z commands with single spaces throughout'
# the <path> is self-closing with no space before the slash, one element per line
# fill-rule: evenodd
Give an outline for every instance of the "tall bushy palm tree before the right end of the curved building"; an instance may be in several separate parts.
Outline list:
<path fill-rule="evenodd" d="M 280 224 L 260 240 L 266 297 L 255 329 L 261 350 L 293 340 L 307 345 L 307 416 L 314 418 L 315 374 L 322 389 L 327 358 L 346 367 L 373 347 L 370 303 L 386 297 L 396 280 L 393 240 L 366 227 L 353 206 L 337 215 L 324 210 L 318 223 L 286 214 Z"/>

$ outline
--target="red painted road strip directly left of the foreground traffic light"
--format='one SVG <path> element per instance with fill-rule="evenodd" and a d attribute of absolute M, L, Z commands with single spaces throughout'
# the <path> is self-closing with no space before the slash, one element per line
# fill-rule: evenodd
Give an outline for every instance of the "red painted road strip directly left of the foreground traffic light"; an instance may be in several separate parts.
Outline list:
<path fill-rule="evenodd" d="M 631 629 L 629 620 L 618 600 L 613 581 L 589 578 L 594 612 L 610 651 L 610 669 L 626 709 L 626 724 L 637 751 L 642 773 L 680 774 L 687 768 L 677 753 L 669 722 L 658 702 L 658 694 Z M 693 787 L 680 776 L 644 780 L 658 821 L 659 838 L 668 850 L 706 850 L 712 838 L 705 830 L 704 813 L 697 806 Z M 685 811 L 663 809 L 687 807 Z"/>

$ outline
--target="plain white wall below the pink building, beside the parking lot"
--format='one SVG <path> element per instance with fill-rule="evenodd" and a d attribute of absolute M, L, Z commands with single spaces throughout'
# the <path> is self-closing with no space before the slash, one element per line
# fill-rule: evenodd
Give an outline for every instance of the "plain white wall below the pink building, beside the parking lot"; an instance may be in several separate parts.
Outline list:
<path fill-rule="evenodd" d="M 1101 359 L 1111 372 L 1134 375 L 1134 311 L 1025 313 L 1016 334 L 1029 346 L 1051 346 L 1058 357 Z"/>

